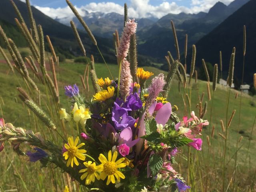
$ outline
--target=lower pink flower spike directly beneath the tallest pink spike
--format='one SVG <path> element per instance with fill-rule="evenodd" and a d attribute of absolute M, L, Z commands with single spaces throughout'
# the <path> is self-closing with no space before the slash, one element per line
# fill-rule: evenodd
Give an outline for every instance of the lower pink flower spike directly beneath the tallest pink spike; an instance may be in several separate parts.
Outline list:
<path fill-rule="evenodd" d="M 126 96 L 130 92 L 130 86 L 132 84 L 132 75 L 130 73 L 130 63 L 127 60 L 122 62 L 122 71 L 120 76 L 120 94 L 123 100 L 126 100 Z"/>

